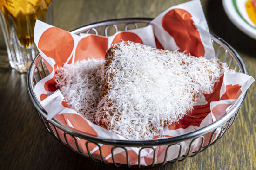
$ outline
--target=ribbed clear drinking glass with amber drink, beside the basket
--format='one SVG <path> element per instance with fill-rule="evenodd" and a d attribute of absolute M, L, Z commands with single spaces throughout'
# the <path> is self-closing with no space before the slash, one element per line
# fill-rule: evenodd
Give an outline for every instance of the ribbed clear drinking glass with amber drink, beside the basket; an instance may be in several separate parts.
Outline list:
<path fill-rule="evenodd" d="M 52 0 L 0 0 L 0 24 L 9 63 L 19 72 L 27 72 L 38 54 L 34 44 L 36 19 L 53 24 Z"/>

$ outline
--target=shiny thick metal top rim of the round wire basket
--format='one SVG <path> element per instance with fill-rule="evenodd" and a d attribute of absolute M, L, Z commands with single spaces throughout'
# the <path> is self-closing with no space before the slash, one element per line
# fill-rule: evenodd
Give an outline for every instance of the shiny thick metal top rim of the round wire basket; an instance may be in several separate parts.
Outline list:
<path fill-rule="evenodd" d="M 104 26 L 104 25 L 113 25 L 113 24 L 120 24 L 120 23 L 134 23 L 134 22 L 150 22 L 153 18 L 122 18 L 122 19 L 111 19 L 111 20 L 104 20 L 101 22 L 95 22 L 92 24 L 81 26 L 77 29 L 74 29 L 71 31 L 71 33 L 81 33 L 82 31 L 94 28 L 96 26 Z M 243 63 L 242 58 L 238 55 L 236 50 L 233 49 L 227 42 L 225 42 L 222 38 L 211 34 L 211 38 L 213 38 L 215 41 L 217 41 L 219 44 L 222 44 L 226 46 L 226 50 L 229 51 L 230 54 L 232 54 L 236 60 L 236 63 L 240 65 L 241 71 L 244 74 L 247 74 L 247 70 L 245 67 L 245 64 Z M 41 56 L 38 55 L 36 58 L 34 58 L 33 62 L 31 63 L 31 66 L 27 73 L 27 92 L 30 97 L 30 100 L 32 101 L 34 107 L 40 113 L 41 116 L 44 117 L 44 119 L 47 119 L 47 112 L 44 110 L 44 108 L 40 105 L 40 102 L 37 100 L 35 94 L 34 94 L 34 88 L 33 88 L 33 74 L 34 70 L 36 69 L 36 66 L 38 62 L 40 61 Z M 35 65 L 36 63 L 36 65 Z M 95 137 L 90 134 L 87 134 L 85 132 L 78 131 L 72 127 L 69 127 L 63 123 L 61 123 L 59 120 L 53 118 L 51 120 L 47 120 L 49 123 L 53 124 L 54 126 L 58 127 L 59 129 L 63 130 L 64 132 L 67 132 L 68 134 L 74 135 L 76 137 L 90 140 L 92 142 L 106 144 L 106 145 L 113 145 L 113 146 L 136 146 L 136 147 L 150 147 L 150 146 L 157 146 L 157 145 L 170 145 L 175 144 L 177 142 L 181 142 L 188 139 L 193 139 L 195 137 L 198 137 L 200 135 L 203 135 L 205 133 L 208 133 L 219 126 L 221 126 L 223 123 L 229 120 L 242 106 L 242 103 L 245 99 L 247 91 L 243 94 L 243 96 L 240 97 L 233 106 L 233 109 L 229 111 L 226 115 L 224 115 L 219 120 L 214 121 L 213 123 L 209 124 L 208 126 L 202 127 L 198 130 L 195 130 L 193 132 L 185 133 L 179 136 L 171 137 L 171 138 L 165 138 L 165 139 L 155 139 L 155 140 L 116 140 L 116 139 L 106 139 L 102 137 Z"/>

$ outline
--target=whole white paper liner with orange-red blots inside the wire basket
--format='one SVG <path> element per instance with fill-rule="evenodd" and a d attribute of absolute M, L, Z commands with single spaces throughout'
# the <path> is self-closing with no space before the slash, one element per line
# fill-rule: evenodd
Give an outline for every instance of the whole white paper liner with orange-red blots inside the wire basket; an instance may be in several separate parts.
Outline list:
<path fill-rule="evenodd" d="M 37 99 L 48 112 L 47 119 L 55 117 L 63 124 L 75 130 L 91 136 L 108 139 L 127 140 L 120 135 L 91 123 L 71 109 L 60 90 L 55 87 L 54 69 L 82 59 L 104 59 L 108 48 L 122 40 L 130 40 L 156 48 L 179 50 L 197 57 L 215 57 L 208 26 L 199 0 L 193 0 L 169 8 L 157 16 L 147 27 L 120 31 L 110 37 L 92 34 L 75 35 L 40 21 L 36 22 L 34 30 L 34 42 L 47 65 L 47 69 L 50 71 L 50 74 L 40 80 L 34 88 Z M 221 118 L 229 111 L 237 99 L 245 93 L 253 81 L 254 79 L 251 76 L 243 73 L 237 73 L 233 70 L 226 71 L 220 81 L 216 82 L 212 94 L 202 96 L 191 112 L 187 113 L 182 120 L 166 127 L 164 136 L 155 137 L 154 139 L 174 137 L 187 132 L 193 132 Z M 95 145 L 84 139 L 73 138 L 68 134 L 65 135 L 58 128 L 58 133 L 56 133 L 53 127 L 52 129 L 55 136 L 63 143 L 68 144 L 74 151 L 86 156 L 91 154 L 95 159 L 101 160 L 101 150 L 103 158 L 107 162 L 113 162 L 111 157 L 113 146 Z M 218 128 L 213 135 L 212 141 L 216 140 L 219 132 L 220 129 Z M 204 135 L 203 146 L 209 143 L 211 134 L 212 132 L 209 132 Z M 180 145 L 169 146 L 166 161 L 175 159 L 178 156 L 180 147 L 181 155 L 186 154 L 191 141 L 192 139 L 180 142 Z M 195 139 L 190 152 L 197 151 L 201 143 L 202 138 Z M 77 145 L 79 148 L 77 148 Z M 154 147 L 155 164 L 163 162 L 167 147 L 168 145 Z M 129 164 L 138 164 L 140 148 L 126 147 L 126 149 L 128 151 Z M 88 150 L 90 151 L 89 153 L 87 152 Z M 140 164 L 145 166 L 152 164 L 153 155 L 154 151 L 152 148 L 141 150 Z M 115 148 L 114 157 L 116 163 L 127 164 L 126 151 L 124 149 Z"/>

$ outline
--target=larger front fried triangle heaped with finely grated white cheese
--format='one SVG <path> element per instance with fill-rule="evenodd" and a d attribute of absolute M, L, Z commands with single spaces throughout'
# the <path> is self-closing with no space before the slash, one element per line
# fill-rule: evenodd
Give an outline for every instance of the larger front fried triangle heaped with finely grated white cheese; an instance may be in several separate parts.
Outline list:
<path fill-rule="evenodd" d="M 110 90 L 98 105 L 96 123 L 104 122 L 111 132 L 134 140 L 163 135 L 164 127 L 182 119 L 202 94 L 213 92 L 227 69 L 216 58 L 129 41 L 115 44 L 112 51 L 114 59 L 102 75 Z"/>

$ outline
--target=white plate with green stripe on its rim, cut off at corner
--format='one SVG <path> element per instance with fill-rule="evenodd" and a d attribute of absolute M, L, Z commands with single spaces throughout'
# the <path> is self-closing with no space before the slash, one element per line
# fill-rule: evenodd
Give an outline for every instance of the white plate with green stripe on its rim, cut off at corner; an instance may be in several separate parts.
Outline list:
<path fill-rule="evenodd" d="M 222 0 L 229 19 L 245 34 L 256 39 L 256 25 L 249 19 L 245 2 L 247 0 Z"/>

